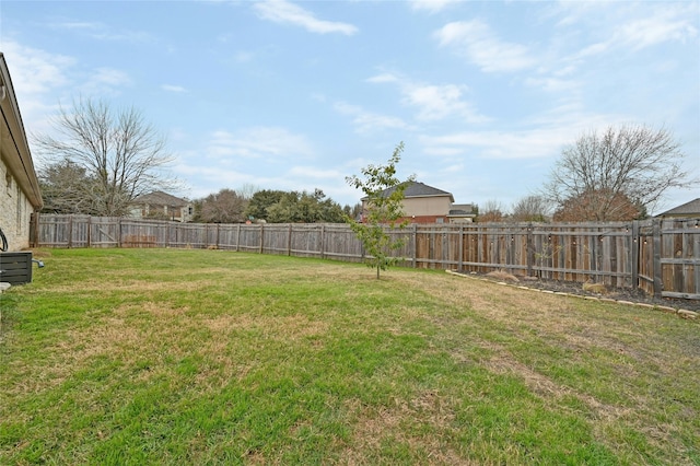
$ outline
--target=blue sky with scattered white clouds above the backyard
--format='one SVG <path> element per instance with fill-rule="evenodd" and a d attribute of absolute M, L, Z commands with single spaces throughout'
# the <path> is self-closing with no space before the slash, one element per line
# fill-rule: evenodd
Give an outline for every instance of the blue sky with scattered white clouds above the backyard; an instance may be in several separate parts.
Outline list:
<path fill-rule="evenodd" d="M 669 129 L 700 174 L 699 1 L 3 0 L 0 50 L 28 133 L 81 95 L 135 106 L 189 198 L 353 205 L 346 176 L 404 141 L 400 177 L 508 210 L 620 124 Z"/>

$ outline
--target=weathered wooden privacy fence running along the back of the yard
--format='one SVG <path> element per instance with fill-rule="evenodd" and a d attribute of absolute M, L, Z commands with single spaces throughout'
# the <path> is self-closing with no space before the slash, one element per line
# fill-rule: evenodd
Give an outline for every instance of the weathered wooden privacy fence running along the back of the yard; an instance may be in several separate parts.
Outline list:
<path fill-rule="evenodd" d="M 360 261 L 346 224 L 202 224 L 88 215 L 34 215 L 35 247 L 180 247 Z M 412 224 L 394 253 L 404 266 L 641 288 L 700 299 L 700 219 L 605 223 Z"/>

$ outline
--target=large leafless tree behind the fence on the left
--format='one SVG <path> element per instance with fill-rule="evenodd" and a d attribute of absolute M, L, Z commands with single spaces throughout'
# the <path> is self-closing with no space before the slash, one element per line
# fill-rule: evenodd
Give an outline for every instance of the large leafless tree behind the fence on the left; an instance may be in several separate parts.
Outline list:
<path fill-rule="evenodd" d="M 135 197 L 179 187 L 163 172 L 173 161 L 165 138 L 133 107 L 114 112 L 103 101 L 80 98 L 51 123 L 56 137 L 34 137 L 39 152 L 48 162 L 69 161 L 94 180 L 84 193 L 92 213 L 124 215 Z"/>

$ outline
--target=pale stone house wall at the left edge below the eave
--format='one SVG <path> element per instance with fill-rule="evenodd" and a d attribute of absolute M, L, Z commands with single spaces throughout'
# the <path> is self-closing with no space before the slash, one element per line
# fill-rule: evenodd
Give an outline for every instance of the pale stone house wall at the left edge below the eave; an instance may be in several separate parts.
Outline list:
<path fill-rule="evenodd" d="M 0 156 L 0 229 L 8 238 L 8 251 L 30 246 L 30 222 L 34 208 Z"/>

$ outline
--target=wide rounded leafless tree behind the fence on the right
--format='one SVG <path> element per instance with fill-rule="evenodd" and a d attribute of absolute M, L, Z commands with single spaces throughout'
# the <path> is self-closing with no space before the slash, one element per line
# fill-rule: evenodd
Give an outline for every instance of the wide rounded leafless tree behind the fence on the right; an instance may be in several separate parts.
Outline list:
<path fill-rule="evenodd" d="M 620 198 L 642 211 L 651 210 L 669 188 L 696 183 L 688 179 L 684 159 L 679 143 L 666 129 L 610 126 L 584 133 L 563 149 L 544 194 L 560 208 L 585 202 L 585 208 L 574 209 L 584 217 L 580 220 L 621 220 Z M 596 201 L 591 202 L 592 198 Z"/>

